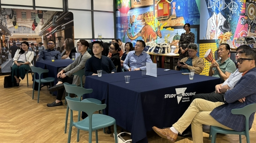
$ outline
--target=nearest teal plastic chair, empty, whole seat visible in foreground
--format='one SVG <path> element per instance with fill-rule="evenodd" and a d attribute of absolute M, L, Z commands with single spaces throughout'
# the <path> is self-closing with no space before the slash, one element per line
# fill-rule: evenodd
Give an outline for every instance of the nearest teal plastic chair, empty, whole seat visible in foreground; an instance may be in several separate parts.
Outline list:
<path fill-rule="evenodd" d="M 70 126 L 68 132 L 68 143 L 70 143 L 71 131 L 73 126 L 80 130 L 89 131 L 89 143 L 91 143 L 92 140 L 92 131 L 95 131 L 96 143 L 98 143 L 98 129 L 114 125 L 114 138 L 117 139 L 115 119 L 107 115 L 93 114 L 95 111 L 105 109 L 107 106 L 106 104 L 80 102 L 78 98 L 71 98 L 69 96 L 66 97 L 66 100 L 70 108 Z M 84 111 L 88 114 L 88 117 L 81 121 L 74 122 L 73 110 L 78 112 Z M 78 141 L 79 136 L 77 136 L 77 142 Z M 118 143 L 117 140 L 115 140 L 115 143 Z"/>

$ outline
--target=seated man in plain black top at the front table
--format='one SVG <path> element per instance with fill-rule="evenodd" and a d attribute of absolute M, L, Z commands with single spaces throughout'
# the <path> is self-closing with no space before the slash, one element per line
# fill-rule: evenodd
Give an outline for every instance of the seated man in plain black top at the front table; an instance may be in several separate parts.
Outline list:
<path fill-rule="evenodd" d="M 103 44 L 100 41 L 92 42 L 92 52 L 94 56 L 89 58 L 85 63 L 85 76 L 98 75 L 97 70 L 102 70 L 102 74 L 115 73 L 116 68 L 112 60 L 101 55 Z"/>

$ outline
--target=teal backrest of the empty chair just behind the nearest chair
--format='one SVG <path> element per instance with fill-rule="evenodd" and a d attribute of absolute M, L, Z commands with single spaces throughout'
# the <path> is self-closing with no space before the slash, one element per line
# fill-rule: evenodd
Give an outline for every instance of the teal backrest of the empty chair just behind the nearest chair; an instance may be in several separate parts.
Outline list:
<path fill-rule="evenodd" d="M 66 92 L 69 94 L 75 94 L 81 100 L 82 95 L 89 94 L 92 92 L 92 89 L 85 89 L 84 87 L 74 86 L 69 83 L 63 83 L 66 89 Z M 79 101 L 80 101 L 79 100 Z"/>

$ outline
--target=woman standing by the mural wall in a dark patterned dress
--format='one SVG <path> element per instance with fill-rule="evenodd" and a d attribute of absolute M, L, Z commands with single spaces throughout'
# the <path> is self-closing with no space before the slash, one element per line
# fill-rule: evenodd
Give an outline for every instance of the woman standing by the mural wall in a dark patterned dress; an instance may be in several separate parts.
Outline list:
<path fill-rule="evenodd" d="M 190 43 L 194 43 L 195 41 L 195 35 L 194 33 L 190 32 L 190 24 L 186 23 L 183 26 L 184 30 L 186 30 L 185 33 L 182 33 L 180 35 L 180 41 L 179 41 L 179 60 L 189 57 L 188 55 L 188 45 Z"/>

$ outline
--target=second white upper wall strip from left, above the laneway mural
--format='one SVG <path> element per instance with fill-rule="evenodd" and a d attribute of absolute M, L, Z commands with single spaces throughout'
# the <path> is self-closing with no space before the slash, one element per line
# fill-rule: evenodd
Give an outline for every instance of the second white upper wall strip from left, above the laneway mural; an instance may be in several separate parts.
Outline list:
<path fill-rule="evenodd" d="M 63 3 L 62 3 L 62 0 L 35 0 L 35 6 L 63 8 Z"/>

